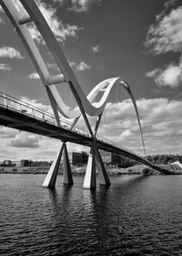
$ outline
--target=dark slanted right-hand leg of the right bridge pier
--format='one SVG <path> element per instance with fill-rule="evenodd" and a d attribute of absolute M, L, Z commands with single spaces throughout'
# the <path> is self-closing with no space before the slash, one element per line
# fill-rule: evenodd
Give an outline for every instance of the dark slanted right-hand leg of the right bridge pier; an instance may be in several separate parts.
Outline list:
<path fill-rule="evenodd" d="M 98 169 L 98 176 L 100 179 L 100 185 L 109 187 L 111 185 L 108 175 L 106 173 L 106 168 L 101 158 L 98 148 L 96 148 L 96 168 Z"/>

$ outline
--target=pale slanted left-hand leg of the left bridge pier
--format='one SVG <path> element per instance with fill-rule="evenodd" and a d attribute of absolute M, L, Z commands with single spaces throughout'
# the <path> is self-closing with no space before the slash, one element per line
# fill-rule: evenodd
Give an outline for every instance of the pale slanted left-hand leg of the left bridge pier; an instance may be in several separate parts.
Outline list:
<path fill-rule="evenodd" d="M 61 157 L 62 157 L 62 153 L 63 153 L 63 149 L 64 149 L 64 143 L 61 147 L 61 150 L 59 150 L 56 154 L 56 158 L 53 161 L 46 177 L 45 177 L 45 181 L 43 183 L 43 187 L 45 188 L 55 188 L 55 184 L 56 184 L 56 177 L 57 177 L 57 173 L 58 173 L 58 168 L 59 168 L 59 164 L 61 161 Z"/>

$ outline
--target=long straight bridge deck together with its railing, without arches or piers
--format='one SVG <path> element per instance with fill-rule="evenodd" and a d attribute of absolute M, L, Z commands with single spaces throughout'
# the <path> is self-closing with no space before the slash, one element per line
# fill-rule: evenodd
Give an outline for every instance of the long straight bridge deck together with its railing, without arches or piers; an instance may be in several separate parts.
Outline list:
<path fill-rule="evenodd" d="M 76 125 L 72 128 L 73 124 L 63 118 L 59 118 L 59 122 L 61 124 L 60 126 L 57 125 L 56 118 L 51 113 L 35 108 L 35 106 L 31 106 L 20 99 L 0 92 L 1 126 L 24 130 L 49 138 L 56 138 L 65 142 L 76 143 L 88 148 L 91 147 L 92 137 L 85 128 Z M 106 138 L 96 135 L 96 143 L 97 147 L 101 150 L 135 159 L 152 169 L 157 169 L 166 174 L 168 173 L 167 170 L 158 169 L 157 166 L 154 166 L 142 156 Z"/>

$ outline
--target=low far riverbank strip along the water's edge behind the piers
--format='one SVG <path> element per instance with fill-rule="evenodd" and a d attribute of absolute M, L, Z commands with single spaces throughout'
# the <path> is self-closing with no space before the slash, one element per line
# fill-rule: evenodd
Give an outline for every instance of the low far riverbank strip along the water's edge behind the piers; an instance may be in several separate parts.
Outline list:
<path fill-rule="evenodd" d="M 167 169 L 172 174 L 182 174 L 182 169 L 177 168 L 175 165 L 158 165 L 161 169 Z M 0 173 L 17 173 L 17 174 L 46 174 L 49 167 L 1 167 Z M 122 174 L 155 174 L 158 175 L 160 172 L 154 169 L 149 169 L 144 165 L 135 165 L 126 169 L 106 167 L 108 175 L 122 175 Z M 85 167 L 72 167 L 73 175 L 84 175 L 86 173 Z M 63 174 L 63 169 L 59 169 L 58 174 Z"/>

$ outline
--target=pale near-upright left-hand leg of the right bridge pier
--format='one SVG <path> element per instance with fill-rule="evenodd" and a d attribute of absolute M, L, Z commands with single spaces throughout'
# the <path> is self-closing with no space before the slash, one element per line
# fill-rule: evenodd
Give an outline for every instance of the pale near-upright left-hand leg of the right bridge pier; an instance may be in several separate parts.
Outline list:
<path fill-rule="evenodd" d="M 86 166 L 86 176 L 84 179 L 84 189 L 96 189 L 96 141 L 92 142 L 88 162 Z"/>

